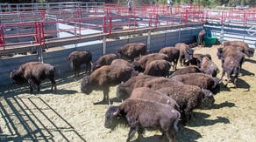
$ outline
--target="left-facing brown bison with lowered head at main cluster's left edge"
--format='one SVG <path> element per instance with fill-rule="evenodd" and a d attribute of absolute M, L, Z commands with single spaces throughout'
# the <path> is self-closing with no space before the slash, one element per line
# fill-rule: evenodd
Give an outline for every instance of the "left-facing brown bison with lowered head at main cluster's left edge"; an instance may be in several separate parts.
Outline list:
<path fill-rule="evenodd" d="M 129 66 L 104 65 L 82 78 L 81 91 L 89 94 L 93 90 L 100 90 L 103 91 L 103 100 L 108 99 L 110 86 L 127 81 L 132 75 L 135 75 L 133 71 Z"/>

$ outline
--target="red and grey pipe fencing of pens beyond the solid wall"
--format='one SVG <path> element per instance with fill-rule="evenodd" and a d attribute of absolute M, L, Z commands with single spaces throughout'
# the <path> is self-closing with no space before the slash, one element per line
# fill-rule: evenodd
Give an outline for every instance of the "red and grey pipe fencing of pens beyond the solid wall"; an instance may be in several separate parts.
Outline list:
<path fill-rule="evenodd" d="M 0 3 L 0 21 L 0 50 L 18 44 L 43 45 L 63 34 L 81 38 L 87 32 L 110 35 L 118 30 L 198 22 L 248 26 L 248 32 L 256 35 L 256 9 L 204 10 L 195 4 L 169 9 L 146 5 L 130 11 L 114 3 Z"/>

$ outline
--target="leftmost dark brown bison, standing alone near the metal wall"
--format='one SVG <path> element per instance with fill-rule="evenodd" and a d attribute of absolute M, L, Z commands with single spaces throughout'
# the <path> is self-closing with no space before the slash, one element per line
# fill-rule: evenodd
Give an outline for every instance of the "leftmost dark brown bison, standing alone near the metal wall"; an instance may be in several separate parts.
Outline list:
<path fill-rule="evenodd" d="M 30 85 L 30 92 L 33 91 L 33 86 L 37 85 L 38 91 L 40 91 L 39 85 L 42 80 L 48 78 L 52 83 L 51 91 L 57 90 L 55 82 L 55 67 L 51 64 L 41 64 L 39 62 L 28 62 L 20 65 L 18 70 L 11 71 L 10 78 L 14 84 L 22 84 L 28 82 Z"/>

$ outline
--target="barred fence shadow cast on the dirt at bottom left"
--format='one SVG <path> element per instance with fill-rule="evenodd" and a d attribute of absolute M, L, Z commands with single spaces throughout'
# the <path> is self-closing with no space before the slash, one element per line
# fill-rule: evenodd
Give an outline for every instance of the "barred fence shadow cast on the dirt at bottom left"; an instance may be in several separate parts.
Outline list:
<path fill-rule="evenodd" d="M 42 98 L 18 96 L 2 98 L 0 110 L 1 118 L 4 118 L 5 122 L 1 125 L 6 125 L 8 129 L 8 133 L 0 133 L 1 141 L 54 141 L 56 135 L 58 139 L 70 141 L 72 140 L 69 138 L 70 133 L 80 139 L 79 141 L 86 141 L 76 132 L 74 126 Z M 49 112 L 56 118 L 51 118 Z"/>

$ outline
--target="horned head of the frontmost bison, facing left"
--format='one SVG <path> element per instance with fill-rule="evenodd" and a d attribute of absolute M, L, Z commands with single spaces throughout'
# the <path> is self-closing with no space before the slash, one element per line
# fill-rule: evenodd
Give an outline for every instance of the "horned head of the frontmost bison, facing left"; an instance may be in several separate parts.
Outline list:
<path fill-rule="evenodd" d="M 118 125 L 118 119 L 120 118 L 120 111 L 118 106 L 110 106 L 105 113 L 105 128 L 114 129 Z"/>

